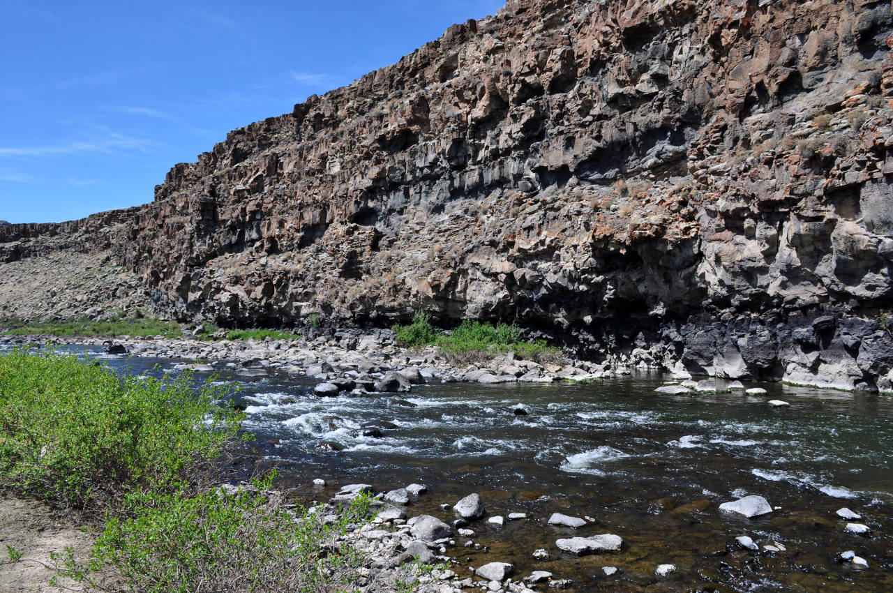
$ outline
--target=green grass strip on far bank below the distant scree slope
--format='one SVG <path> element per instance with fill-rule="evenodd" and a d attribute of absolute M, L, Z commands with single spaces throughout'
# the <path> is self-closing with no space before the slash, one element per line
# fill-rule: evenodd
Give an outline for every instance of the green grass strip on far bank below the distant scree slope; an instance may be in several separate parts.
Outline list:
<path fill-rule="evenodd" d="M 13 335 L 47 335 L 47 336 L 93 336 L 114 338 L 129 336 L 142 338 L 145 336 L 163 336 L 179 338 L 183 330 L 179 323 L 163 322 L 153 317 L 119 317 L 113 320 L 96 321 L 86 318 L 65 322 L 19 322 L 7 320 L 2 325 L 10 328 L 7 334 Z"/>

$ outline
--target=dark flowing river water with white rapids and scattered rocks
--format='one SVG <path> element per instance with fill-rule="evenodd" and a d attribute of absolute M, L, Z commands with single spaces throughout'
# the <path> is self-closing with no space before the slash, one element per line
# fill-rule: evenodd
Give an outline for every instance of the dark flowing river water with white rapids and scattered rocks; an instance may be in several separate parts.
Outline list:
<path fill-rule="evenodd" d="M 175 362 L 107 358 L 138 373 L 171 372 Z M 410 516 L 449 522 L 438 505 L 472 492 L 490 515 L 529 515 L 503 527 L 472 523 L 472 539 L 488 552 L 455 538 L 447 553 L 460 576 L 467 566 L 505 561 L 517 576 L 546 570 L 574 580 L 578 591 L 893 590 L 891 397 L 779 384 L 760 386 L 768 396 L 673 396 L 655 394 L 662 378 L 653 374 L 326 398 L 313 396 L 316 381 L 308 378 L 222 372 L 218 380 L 240 385 L 232 399 L 246 406 L 255 455 L 277 464 L 283 485 L 305 503 L 350 482 L 377 490 L 420 482 L 429 491 Z M 789 407 L 769 407 L 773 397 Z M 372 421 L 397 428 L 363 437 L 361 425 Z M 314 488 L 317 477 L 330 486 Z M 749 494 L 780 508 L 752 520 L 718 511 Z M 835 514 L 842 506 L 862 514 L 872 532 L 845 532 Z M 549 527 L 554 512 L 595 521 L 579 530 Z M 597 533 L 620 535 L 622 551 L 578 558 L 555 547 L 555 539 Z M 739 535 L 761 551 L 740 549 Z M 784 550 L 762 549 L 775 542 Z M 537 548 L 550 559 L 535 560 Z M 846 550 L 868 568 L 836 562 Z M 659 579 L 658 564 L 676 564 L 677 572 Z M 605 576 L 609 565 L 620 572 Z"/>

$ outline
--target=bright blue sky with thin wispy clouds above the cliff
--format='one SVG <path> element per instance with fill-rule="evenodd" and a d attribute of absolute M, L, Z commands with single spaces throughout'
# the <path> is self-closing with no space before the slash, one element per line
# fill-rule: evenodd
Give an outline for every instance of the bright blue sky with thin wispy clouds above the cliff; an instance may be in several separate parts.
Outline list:
<path fill-rule="evenodd" d="M 349 84 L 505 0 L 0 0 L 0 220 L 151 202 L 230 129 Z"/>

